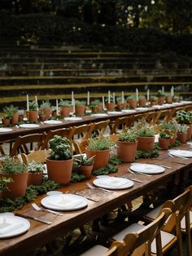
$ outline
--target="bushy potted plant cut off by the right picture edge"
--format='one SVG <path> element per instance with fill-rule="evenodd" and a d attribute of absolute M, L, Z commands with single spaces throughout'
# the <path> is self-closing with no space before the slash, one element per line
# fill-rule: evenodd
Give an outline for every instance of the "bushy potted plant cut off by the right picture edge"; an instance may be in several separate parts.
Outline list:
<path fill-rule="evenodd" d="M 190 139 L 192 135 L 192 112 L 185 110 L 177 111 L 176 121 L 179 124 L 185 124 L 189 127 L 189 129 L 187 130 L 187 139 Z"/>

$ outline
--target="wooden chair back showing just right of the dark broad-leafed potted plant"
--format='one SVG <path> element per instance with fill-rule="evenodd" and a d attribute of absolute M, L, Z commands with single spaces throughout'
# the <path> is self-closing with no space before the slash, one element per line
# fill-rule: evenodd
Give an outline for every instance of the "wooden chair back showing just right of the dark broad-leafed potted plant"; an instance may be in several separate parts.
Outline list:
<path fill-rule="evenodd" d="M 88 139 L 91 136 L 94 124 L 87 124 L 82 126 L 74 126 L 68 134 L 68 139 L 72 140 L 73 152 L 81 154 L 85 152 Z"/>

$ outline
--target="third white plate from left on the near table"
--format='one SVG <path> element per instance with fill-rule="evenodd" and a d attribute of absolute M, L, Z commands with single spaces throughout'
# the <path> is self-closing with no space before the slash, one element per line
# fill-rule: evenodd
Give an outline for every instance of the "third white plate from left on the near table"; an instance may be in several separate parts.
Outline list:
<path fill-rule="evenodd" d="M 94 179 L 94 185 L 99 188 L 108 189 L 125 189 L 132 188 L 134 183 L 130 179 L 120 178 L 120 177 L 103 177 Z"/>

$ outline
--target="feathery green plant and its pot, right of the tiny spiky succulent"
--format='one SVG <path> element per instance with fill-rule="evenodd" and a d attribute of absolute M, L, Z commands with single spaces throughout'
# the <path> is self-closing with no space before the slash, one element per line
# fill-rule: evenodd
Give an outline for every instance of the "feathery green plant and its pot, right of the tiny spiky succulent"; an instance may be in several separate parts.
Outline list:
<path fill-rule="evenodd" d="M 98 170 L 100 167 L 106 167 L 110 157 L 111 148 L 110 137 L 91 137 L 88 141 L 85 153 L 87 157 L 94 157 L 93 170 Z"/>

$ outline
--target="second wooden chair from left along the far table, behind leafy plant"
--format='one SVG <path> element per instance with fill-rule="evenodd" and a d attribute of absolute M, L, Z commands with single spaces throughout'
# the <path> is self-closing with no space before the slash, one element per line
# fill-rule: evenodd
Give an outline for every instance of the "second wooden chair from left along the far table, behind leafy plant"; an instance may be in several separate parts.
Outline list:
<path fill-rule="evenodd" d="M 55 135 L 59 135 L 61 137 L 68 138 L 69 132 L 72 130 L 72 127 L 70 128 L 61 128 L 57 130 L 49 130 L 46 134 L 46 138 L 44 139 L 44 143 L 41 146 L 41 149 L 48 149 L 49 148 L 49 140 L 53 138 Z"/>

